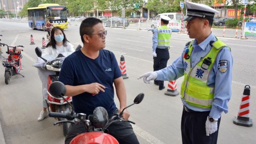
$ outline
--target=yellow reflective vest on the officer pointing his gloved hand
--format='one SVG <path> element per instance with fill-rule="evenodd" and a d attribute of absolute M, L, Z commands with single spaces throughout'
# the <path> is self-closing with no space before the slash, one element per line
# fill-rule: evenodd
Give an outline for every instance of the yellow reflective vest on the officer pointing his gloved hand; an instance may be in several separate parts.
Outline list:
<path fill-rule="evenodd" d="M 190 54 L 193 50 L 192 43 L 193 41 L 188 46 L 188 57 L 183 58 L 186 69 L 184 69 L 184 80 L 181 85 L 181 98 L 184 98 L 185 102 L 192 106 L 210 109 L 214 98 L 214 87 L 207 86 L 208 77 L 218 53 L 222 48 L 228 46 L 217 39 L 216 42 L 212 43 L 212 48 L 208 54 L 194 67 L 191 67 Z"/>

